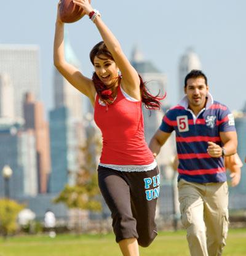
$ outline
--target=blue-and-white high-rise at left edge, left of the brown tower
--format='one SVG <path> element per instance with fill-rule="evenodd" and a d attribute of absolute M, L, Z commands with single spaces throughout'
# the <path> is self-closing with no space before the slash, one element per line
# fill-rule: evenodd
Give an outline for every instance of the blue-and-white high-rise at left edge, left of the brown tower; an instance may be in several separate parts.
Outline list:
<path fill-rule="evenodd" d="M 36 196 L 38 170 L 36 142 L 32 130 L 22 130 L 23 125 L 9 119 L 0 119 L 0 169 L 6 164 L 13 170 L 9 178 L 10 198 Z M 0 175 L 0 194 L 4 180 Z"/>

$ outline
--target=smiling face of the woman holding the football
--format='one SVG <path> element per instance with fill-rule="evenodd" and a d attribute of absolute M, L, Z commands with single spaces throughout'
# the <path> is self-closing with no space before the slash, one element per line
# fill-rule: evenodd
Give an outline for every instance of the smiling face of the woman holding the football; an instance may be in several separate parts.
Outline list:
<path fill-rule="evenodd" d="M 94 58 L 94 68 L 98 78 L 105 86 L 111 87 L 117 81 L 118 68 L 116 63 L 105 55 Z"/>

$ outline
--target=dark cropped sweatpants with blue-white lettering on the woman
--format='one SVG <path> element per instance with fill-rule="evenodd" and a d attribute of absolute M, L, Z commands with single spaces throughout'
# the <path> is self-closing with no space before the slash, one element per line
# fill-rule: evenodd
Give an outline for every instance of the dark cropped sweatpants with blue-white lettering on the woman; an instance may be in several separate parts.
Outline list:
<path fill-rule="evenodd" d="M 111 210 L 116 242 L 137 238 L 140 246 L 149 246 L 157 235 L 154 221 L 160 189 L 157 167 L 146 172 L 121 172 L 98 166 L 98 184 Z"/>

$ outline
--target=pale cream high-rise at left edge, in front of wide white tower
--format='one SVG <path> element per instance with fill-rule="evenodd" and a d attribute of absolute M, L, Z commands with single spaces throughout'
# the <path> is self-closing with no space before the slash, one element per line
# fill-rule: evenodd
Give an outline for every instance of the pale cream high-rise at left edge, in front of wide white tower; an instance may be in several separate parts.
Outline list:
<path fill-rule="evenodd" d="M 14 118 L 14 87 L 7 74 L 0 74 L 0 117 Z"/>

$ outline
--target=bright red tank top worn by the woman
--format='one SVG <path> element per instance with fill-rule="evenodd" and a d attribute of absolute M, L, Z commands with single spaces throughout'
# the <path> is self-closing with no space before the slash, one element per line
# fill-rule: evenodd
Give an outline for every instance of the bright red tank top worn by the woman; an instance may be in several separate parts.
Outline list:
<path fill-rule="evenodd" d="M 103 135 L 102 164 L 146 165 L 154 161 L 145 142 L 141 101 L 127 100 L 120 86 L 108 107 L 100 105 L 97 95 L 94 119 Z"/>

